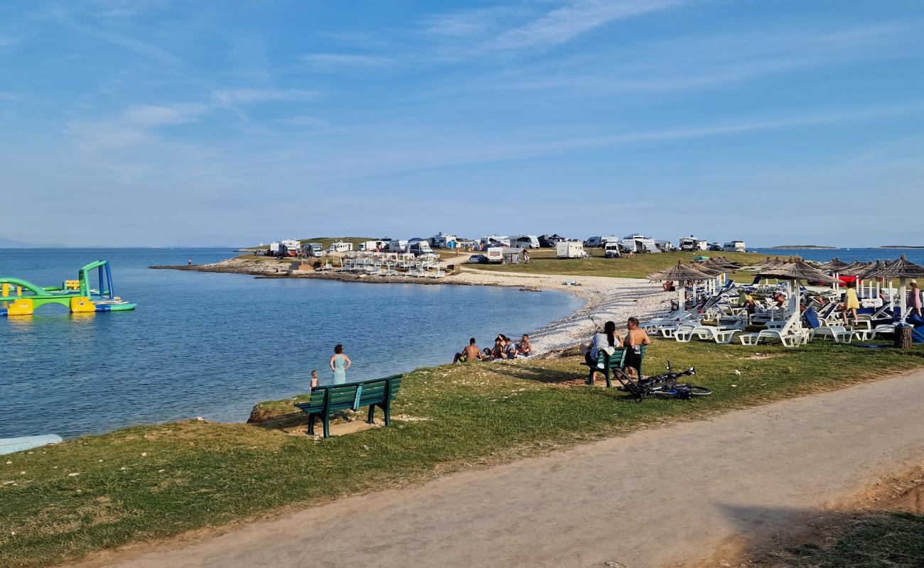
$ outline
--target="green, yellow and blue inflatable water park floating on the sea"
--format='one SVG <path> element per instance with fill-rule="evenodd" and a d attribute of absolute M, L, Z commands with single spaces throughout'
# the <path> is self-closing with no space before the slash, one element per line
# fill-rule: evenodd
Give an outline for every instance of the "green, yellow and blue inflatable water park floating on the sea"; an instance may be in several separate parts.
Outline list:
<path fill-rule="evenodd" d="M 65 306 L 71 313 L 135 309 L 135 304 L 113 292 L 108 260 L 91 262 L 79 270 L 77 280 L 65 280 L 60 286 L 0 277 L 0 316 L 30 316 L 47 304 Z"/>

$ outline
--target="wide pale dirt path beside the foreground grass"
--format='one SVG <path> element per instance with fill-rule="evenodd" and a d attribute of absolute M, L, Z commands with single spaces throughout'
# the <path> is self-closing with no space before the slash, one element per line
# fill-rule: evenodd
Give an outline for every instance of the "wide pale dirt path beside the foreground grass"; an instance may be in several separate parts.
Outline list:
<path fill-rule="evenodd" d="M 650 429 L 91 565 L 689 562 L 783 530 L 881 475 L 920 463 L 922 381 L 918 372 Z"/>

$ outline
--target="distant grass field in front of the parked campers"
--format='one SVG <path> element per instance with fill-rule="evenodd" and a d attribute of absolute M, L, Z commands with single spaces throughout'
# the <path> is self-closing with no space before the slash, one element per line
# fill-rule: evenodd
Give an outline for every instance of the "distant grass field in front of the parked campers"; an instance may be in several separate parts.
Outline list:
<path fill-rule="evenodd" d="M 659 254 L 639 254 L 631 259 L 606 259 L 602 256 L 602 249 L 595 248 L 590 259 L 557 259 L 555 251 L 543 248 L 530 252 L 529 264 L 467 264 L 466 268 L 501 271 L 501 272 L 531 272 L 541 274 L 568 274 L 574 276 L 616 276 L 621 278 L 645 278 L 650 272 L 663 271 L 683 260 L 685 263 L 697 256 L 723 256 L 739 264 L 754 264 L 765 258 L 751 252 L 664 252 Z M 787 256 L 781 253 L 781 257 Z M 738 273 L 735 276 L 748 283 L 753 280 L 752 273 Z"/>

